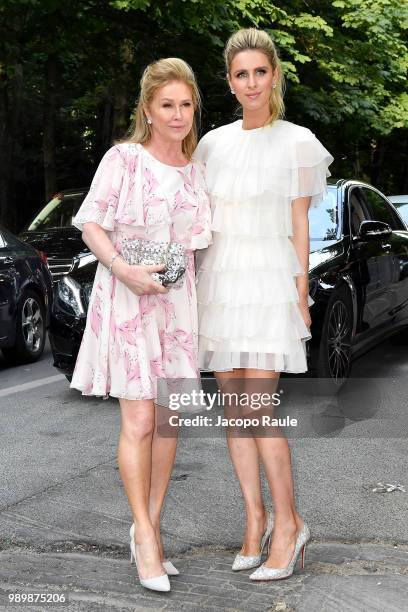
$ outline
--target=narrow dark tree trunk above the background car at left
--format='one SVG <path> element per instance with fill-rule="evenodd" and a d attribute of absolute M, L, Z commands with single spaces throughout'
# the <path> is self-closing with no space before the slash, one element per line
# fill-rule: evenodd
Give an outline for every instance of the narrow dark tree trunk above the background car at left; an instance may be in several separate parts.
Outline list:
<path fill-rule="evenodd" d="M 48 56 L 45 65 L 44 91 L 44 186 L 46 200 L 57 191 L 57 166 L 55 157 L 55 124 L 57 114 L 57 58 L 54 54 Z"/>

